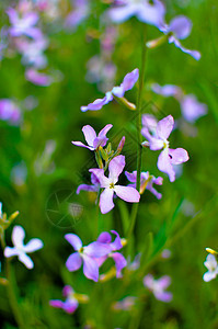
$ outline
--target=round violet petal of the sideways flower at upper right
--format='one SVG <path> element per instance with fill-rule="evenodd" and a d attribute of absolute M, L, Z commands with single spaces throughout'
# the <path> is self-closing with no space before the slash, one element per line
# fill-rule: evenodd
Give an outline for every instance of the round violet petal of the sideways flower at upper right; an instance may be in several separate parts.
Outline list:
<path fill-rule="evenodd" d="M 174 18 L 170 24 L 170 31 L 175 34 L 175 37 L 183 39 L 186 38 L 192 30 L 192 21 L 186 16 L 180 15 Z"/>

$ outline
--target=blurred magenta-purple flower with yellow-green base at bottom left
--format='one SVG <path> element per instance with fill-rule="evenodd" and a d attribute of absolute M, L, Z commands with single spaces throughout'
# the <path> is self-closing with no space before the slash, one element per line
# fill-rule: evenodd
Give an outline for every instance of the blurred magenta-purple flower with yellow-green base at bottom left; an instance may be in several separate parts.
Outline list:
<path fill-rule="evenodd" d="M 49 305 L 56 308 L 62 308 L 66 313 L 72 314 L 78 308 L 79 302 L 87 303 L 89 297 L 87 295 L 81 295 L 74 293 L 73 288 L 70 285 L 66 285 L 62 290 L 62 296 L 66 297 L 66 300 L 51 299 Z"/>

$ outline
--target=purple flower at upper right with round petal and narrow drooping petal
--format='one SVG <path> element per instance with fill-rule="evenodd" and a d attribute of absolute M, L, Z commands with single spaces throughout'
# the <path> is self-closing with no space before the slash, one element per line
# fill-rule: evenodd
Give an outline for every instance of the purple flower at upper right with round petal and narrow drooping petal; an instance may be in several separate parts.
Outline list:
<path fill-rule="evenodd" d="M 183 47 L 180 43 L 180 39 L 186 38 L 192 30 L 192 21 L 186 16 L 180 15 L 174 18 L 170 24 L 164 24 L 159 29 L 165 35 L 168 35 L 168 39 L 170 44 L 174 44 L 175 47 L 180 48 L 183 53 L 186 53 L 194 57 L 196 60 L 200 58 L 200 54 L 197 50 L 190 50 Z"/>

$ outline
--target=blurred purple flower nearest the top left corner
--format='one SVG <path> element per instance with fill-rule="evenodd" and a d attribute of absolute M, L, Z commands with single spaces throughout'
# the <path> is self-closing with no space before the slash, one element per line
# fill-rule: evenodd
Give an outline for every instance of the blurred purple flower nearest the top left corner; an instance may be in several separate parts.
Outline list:
<path fill-rule="evenodd" d="M 38 14 L 36 12 L 26 12 L 22 18 L 13 8 L 8 8 L 7 14 L 9 15 L 12 26 L 9 29 L 11 36 L 26 35 L 32 38 L 42 37 L 42 32 L 38 27 L 35 27 L 38 22 Z"/>

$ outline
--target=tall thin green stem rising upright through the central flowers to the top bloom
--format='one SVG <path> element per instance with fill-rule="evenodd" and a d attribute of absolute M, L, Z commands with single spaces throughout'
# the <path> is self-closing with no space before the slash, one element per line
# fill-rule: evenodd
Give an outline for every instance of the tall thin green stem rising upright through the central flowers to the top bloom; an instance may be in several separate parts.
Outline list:
<path fill-rule="evenodd" d="M 144 91 L 144 80 L 145 80 L 145 71 L 146 71 L 146 30 L 142 35 L 142 52 L 141 52 L 141 70 L 139 75 L 139 89 L 138 89 L 138 98 L 136 104 L 137 111 L 137 181 L 136 189 L 140 191 L 140 174 L 141 174 L 141 154 L 142 154 L 142 136 L 141 136 L 141 101 L 142 101 L 142 91 Z M 138 203 L 133 205 L 131 216 L 130 216 L 130 225 L 127 232 L 127 238 L 131 236 L 136 225 L 136 217 L 138 213 Z"/>

